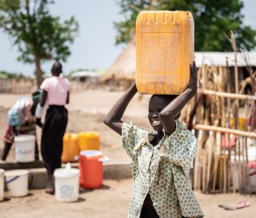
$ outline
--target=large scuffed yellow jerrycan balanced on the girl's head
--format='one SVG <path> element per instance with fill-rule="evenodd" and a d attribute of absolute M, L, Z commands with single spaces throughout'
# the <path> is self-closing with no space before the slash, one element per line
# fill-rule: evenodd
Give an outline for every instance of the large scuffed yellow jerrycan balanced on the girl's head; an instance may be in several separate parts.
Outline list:
<path fill-rule="evenodd" d="M 142 11 L 136 22 L 139 93 L 181 94 L 194 60 L 194 19 L 188 11 Z"/>

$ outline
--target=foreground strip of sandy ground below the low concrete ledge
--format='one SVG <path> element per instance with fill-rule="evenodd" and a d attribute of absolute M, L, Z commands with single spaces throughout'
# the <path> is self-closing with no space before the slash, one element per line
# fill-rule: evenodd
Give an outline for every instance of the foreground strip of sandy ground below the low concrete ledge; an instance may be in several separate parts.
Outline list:
<path fill-rule="evenodd" d="M 29 196 L 0 202 L 1 218 L 125 218 L 132 191 L 132 180 L 105 180 L 100 189 L 81 190 L 78 202 L 58 202 L 44 190 L 32 190 Z M 196 193 L 206 218 L 254 218 L 256 197 L 238 194 L 203 195 Z M 249 208 L 226 211 L 218 204 L 235 206 L 248 200 Z"/>

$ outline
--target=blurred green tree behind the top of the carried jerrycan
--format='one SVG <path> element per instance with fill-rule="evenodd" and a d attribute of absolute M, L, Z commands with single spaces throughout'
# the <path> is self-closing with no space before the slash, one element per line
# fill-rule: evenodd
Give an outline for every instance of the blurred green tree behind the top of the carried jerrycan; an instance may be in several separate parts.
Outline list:
<path fill-rule="evenodd" d="M 233 30 L 238 48 L 252 50 L 256 46 L 256 31 L 244 26 L 241 0 L 116 0 L 125 20 L 116 22 L 116 43 L 134 38 L 135 22 L 141 10 L 189 10 L 195 22 L 196 51 L 231 51 L 226 37 Z"/>

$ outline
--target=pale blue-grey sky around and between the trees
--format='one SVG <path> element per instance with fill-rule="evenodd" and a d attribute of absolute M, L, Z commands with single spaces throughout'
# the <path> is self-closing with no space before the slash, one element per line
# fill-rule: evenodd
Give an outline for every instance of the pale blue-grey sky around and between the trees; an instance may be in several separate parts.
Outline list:
<path fill-rule="evenodd" d="M 228 1 L 228 0 L 227 0 Z M 243 0 L 244 23 L 256 29 L 256 0 Z M 64 72 L 75 69 L 106 69 L 121 53 L 124 46 L 115 46 L 113 22 L 122 20 L 119 7 L 114 0 L 56 0 L 50 8 L 52 14 L 62 20 L 71 15 L 78 20 L 79 34 L 71 46 L 71 55 L 63 63 Z M 32 75 L 34 65 L 17 61 L 18 51 L 10 38 L 0 31 L 0 70 Z M 42 65 L 50 72 L 52 62 Z"/>

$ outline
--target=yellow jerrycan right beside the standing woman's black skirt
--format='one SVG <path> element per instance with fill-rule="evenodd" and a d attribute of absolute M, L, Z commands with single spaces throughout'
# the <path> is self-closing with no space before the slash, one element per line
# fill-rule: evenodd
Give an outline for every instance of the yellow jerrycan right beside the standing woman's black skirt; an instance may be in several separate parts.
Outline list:
<path fill-rule="evenodd" d="M 66 133 L 63 137 L 62 162 L 75 161 L 79 155 L 78 134 Z"/>

